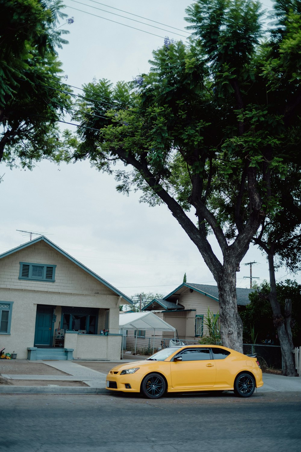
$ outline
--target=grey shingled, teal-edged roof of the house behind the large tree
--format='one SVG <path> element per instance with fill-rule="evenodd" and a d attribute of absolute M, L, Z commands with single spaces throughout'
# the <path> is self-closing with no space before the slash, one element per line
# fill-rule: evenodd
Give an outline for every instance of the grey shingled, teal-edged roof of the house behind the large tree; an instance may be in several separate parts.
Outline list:
<path fill-rule="evenodd" d="M 171 299 L 175 299 L 176 295 L 180 296 L 184 290 L 188 288 L 191 290 L 194 290 L 195 292 L 199 292 L 202 295 L 205 295 L 206 297 L 211 298 L 212 300 L 219 301 L 218 300 L 218 286 L 208 286 L 206 284 L 195 284 L 195 283 L 188 283 L 183 282 L 181 286 L 177 287 L 175 290 L 173 290 L 171 293 L 169 293 L 166 297 L 164 297 L 164 300 L 167 300 L 169 297 Z M 249 300 L 249 294 L 254 292 L 255 289 L 242 289 L 241 287 L 236 287 L 236 297 L 237 297 L 237 305 L 239 306 L 246 306 L 250 303 Z M 178 292 L 178 293 L 176 293 Z"/>

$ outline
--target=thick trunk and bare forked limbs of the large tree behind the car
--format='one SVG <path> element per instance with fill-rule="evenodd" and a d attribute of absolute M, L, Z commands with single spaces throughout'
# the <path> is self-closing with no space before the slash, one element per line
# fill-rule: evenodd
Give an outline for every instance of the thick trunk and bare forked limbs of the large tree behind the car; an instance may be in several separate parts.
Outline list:
<path fill-rule="evenodd" d="M 153 188 L 155 193 L 163 202 L 165 202 L 172 215 L 189 236 L 190 240 L 197 246 L 205 264 L 213 273 L 213 277 L 218 284 L 222 344 L 225 347 L 243 353 L 243 325 L 237 311 L 236 271 L 239 268 L 241 259 L 247 252 L 250 240 L 257 231 L 261 221 L 261 212 L 260 209 L 258 209 L 258 204 L 260 203 L 258 197 L 256 197 L 256 193 L 253 194 L 253 205 L 256 208 L 232 245 L 227 244 L 222 228 L 218 225 L 218 221 L 204 203 L 200 200 L 191 200 L 196 211 L 208 221 L 208 224 L 213 229 L 223 254 L 223 264 L 221 264 L 208 242 L 205 228 L 198 229 L 194 225 L 190 218 L 187 217 L 180 204 L 167 193 L 162 185 L 157 183 L 157 179 L 148 170 L 147 164 L 139 162 L 133 155 L 130 155 L 130 153 L 126 154 L 121 148 L 118 149 L 118 155 L 123 161 L 140 171 L 148 185 Z M 252 177 L 250 179 L 252 180 Z M 250 191 L 252 191 L 252 188 Z M 261 204 L 259 207 L 261 207 Z"/>

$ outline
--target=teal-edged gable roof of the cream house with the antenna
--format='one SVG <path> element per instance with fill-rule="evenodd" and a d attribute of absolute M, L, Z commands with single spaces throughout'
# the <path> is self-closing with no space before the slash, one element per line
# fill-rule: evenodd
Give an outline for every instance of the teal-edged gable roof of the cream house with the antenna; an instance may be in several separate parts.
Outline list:
<path fill-rule="evenodd" d="M 13 253 L 16 253 L 17 251 L 23 250 L 24 248 L 27 248 L 30 245 L 34 245 L 35 243 L 40 242 L 40 241 L 44 241 L 47 245 L 51 246 L 51 248 L 58 251 L 60 254 L 65 256 L 67 259 L 69 259 L 75 265 L 82 268 L 82 270 L 84 270 L 85 272 L 89 273 L 89 275 L 91 275 L 93 278 L 97 279 L 97 281 L 101 282 L 104 286 L 106 286 L 112 292 L 115 292 L 116 295 L 119 295 L 125 301 L 128 301 L 131 305 L 133 304 L 133 301 L 129 297 L 127 297 L 124 293 L 120 292 L 120 290 L 116 289 L 116 287 L 112 286 L 105 279 L 102 279 L 100 276 L 98 276 L 96 273 L 94 273 L 88 267 L 81 264 L 81 262 L 79 262 L 77 259 L 74 259 L 74 257 L 70 256 L 70 254 L 66 253 L 55 243 L 51 242 L 51 240 L 47 239 L 47 237 L 45 237 L 44 235 L 41 235 L 40 237 L 37 237 L 36 239 L 30 240 L 29 242 L 23 243 L 22 245 L 19 245 L 16 248 L 13 248 L 12 250 L 6 251 L 6 253 L 0 254 L 0 259 L 3 259 L 4 257 L 9 256 L 9 254 L 13 254 Z"/>

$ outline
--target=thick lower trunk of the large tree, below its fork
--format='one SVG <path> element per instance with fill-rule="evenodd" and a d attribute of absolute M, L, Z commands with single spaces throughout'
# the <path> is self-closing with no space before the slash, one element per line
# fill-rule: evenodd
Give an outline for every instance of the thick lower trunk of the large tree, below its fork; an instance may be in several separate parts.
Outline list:
<path fill-rule="evenodd" d="M 242 321 L 237 311 L 236 267 L 224 263 L 218 281 L 222 344 L 243 353 Z"/>

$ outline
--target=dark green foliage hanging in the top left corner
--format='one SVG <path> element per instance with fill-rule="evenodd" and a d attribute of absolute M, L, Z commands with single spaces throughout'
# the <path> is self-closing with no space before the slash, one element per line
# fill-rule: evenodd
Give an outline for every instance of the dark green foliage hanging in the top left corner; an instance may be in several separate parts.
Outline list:
<path fill-rule="evenodd" d="M 41 158 L 59 161 L 76 140 L 61 142 L 57 121 L 71 108 L 61 84 L 56 47 L 67 43 L 58 29 L 60 0 L 5 0 L 0 17 L 0 161 L 32 169 Z"/>

